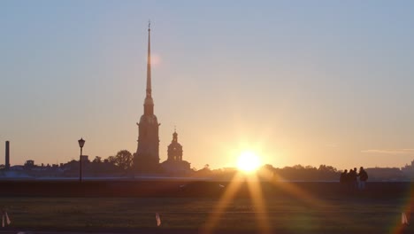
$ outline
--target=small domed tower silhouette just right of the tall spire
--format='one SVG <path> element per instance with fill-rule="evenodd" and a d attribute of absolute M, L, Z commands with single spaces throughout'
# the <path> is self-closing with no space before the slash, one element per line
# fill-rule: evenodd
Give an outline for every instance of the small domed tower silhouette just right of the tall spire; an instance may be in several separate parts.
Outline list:
<path fill-rule="evenodd" d="M 190 163 L 182 160 L 182 145 L 178 142 L 178 134 L 175 130 L 173 141 L 168 145 L 168 159 L 161 166 L 170 174 L 186 174 L 191 170 Z"/>

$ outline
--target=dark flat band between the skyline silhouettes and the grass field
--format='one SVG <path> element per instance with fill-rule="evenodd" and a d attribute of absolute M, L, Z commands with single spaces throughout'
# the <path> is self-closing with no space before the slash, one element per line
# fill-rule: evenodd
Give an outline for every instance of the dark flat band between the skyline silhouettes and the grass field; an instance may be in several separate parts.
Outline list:
<path fill-rule="evenodd" d="M 144 181 L 1 181 L 0 197 L 220 197 L 230 182 L 189 180 Z M 290 196 L 288 188 L 313 196 L 348 196 L 353 192 L 373 198 L 406 198 L 414 196 L 414 183 L 371 182 L 363 192 L 341 183 L 326 182 L 254 182 L 264 196 Z M 249 183 L 241 182 L 238 197 L 249 197 Z"/>

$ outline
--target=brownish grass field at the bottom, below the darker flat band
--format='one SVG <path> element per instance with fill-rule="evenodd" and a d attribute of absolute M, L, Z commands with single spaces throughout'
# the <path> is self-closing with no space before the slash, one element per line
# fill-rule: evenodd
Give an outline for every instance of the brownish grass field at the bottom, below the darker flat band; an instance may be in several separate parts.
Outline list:
<path fill-rule="evenodd" d="M 263 202 L 265 210 L 251 199 L 232 199 L 217 212 L 219 199 L 213 198 L 23 197 L 0 198 L 0 207 L 12 220 L 6 229 L 203 230 L 217 217 L 211 230 L 234 233 L 414 233 L 412 225 L 401 224 L 402 212 L 410 207 L 404 199 L 280 197 Z"/>

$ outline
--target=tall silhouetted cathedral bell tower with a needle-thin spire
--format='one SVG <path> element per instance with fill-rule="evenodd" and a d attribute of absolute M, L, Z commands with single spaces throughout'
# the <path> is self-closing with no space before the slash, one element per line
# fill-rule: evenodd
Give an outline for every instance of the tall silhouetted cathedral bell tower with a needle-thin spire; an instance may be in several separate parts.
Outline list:
<path fill-rule="evenodd" d="M 138 125 L 138 147 L 134 154 L 134 168 L 137 172 L 159 171 L 159 137 L 157 116 L 154 114 L 154 101 L 151 90 L 151 51 L 150 28 L 148 27 L 147 94 L 144 100 L 144 113 Z"/>

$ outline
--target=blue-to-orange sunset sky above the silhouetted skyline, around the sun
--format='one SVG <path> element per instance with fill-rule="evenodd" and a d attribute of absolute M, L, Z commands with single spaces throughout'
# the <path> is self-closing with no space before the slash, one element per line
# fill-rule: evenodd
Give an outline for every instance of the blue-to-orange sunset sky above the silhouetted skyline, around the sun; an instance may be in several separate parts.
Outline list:
<path fill-rule="evenodd" d="M 136 152 L 148 20 L 160 159 L 275 168 L 414 160 L 412 1 L 0 1 L 12 165 Z M 4 152 L 4 150 L 2 151 Z M 4 157 L 0 157 L 4 164 Z"/>

